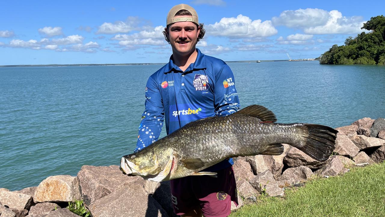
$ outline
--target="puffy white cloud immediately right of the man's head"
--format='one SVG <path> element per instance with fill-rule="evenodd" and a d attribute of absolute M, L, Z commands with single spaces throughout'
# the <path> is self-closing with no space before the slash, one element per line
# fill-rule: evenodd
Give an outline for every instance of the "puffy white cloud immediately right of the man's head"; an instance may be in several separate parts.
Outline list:
<path fill-rule="evenodd" d="M 251 20 L 241 14 L 236 18 L 224 17 L 215 24 L 209 24 L 206 29 L 210 35 L 233 38 L 268 37 L 278 33 L 270 20 Z"/>

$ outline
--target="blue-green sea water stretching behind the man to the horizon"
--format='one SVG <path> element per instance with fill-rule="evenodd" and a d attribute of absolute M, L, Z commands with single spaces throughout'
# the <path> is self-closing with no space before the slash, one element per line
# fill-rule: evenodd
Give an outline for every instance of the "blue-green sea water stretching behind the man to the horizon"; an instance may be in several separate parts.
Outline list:
<path fill-rule="evenodd" d="M 229 66 L 241 107 L 264 105 L 281 123 L 340 127 L 385 117 L 384 66 Z M 82 165 L 118 165 L 136 145 L 146 81 L 160 67 L 0 68 L 0 188 L 20 190 L 48 176 L 75 176 Z"/>

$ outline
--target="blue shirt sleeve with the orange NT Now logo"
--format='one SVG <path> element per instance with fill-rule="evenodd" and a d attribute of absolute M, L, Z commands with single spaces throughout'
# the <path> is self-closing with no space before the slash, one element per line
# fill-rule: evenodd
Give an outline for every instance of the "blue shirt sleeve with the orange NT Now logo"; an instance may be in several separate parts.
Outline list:
<path fill-rule="evenodd" d="M 218 116 L 233 114 L 240 109 L 234 75 L 227 64 L 215 75 L 214 106 Z"/>

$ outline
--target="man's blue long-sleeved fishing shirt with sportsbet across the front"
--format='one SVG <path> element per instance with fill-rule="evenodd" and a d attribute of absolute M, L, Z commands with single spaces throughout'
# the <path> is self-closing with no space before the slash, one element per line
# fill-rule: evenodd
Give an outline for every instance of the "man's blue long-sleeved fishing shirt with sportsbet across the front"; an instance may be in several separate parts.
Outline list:
<path fill-rule="evenodd" d="M 135 152 L 157 141 L 163 121 L 166 122 L 168 135 L 191 121 L 225 116 L 239 110 L 238 93 L 230 67 L 221 59 L 196 50 L 196 61 L 185 71 L 174 64 L 171 55 L 169 63 L 148 79 L 145 110 Z M 233 159 L 230 158 L 203 171 L 214 172 L 232 164 Z"/>

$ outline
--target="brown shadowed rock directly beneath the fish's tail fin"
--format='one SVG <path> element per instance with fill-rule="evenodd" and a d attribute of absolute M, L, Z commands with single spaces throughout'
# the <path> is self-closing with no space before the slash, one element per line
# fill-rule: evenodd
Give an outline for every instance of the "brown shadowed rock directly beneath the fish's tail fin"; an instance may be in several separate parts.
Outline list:
<path fill-rule="evenodd" d="M 283 163 L 289 167 L 307 166 L 310 169 L 321 168 L 325 162 L 317 161 L 296 147 L 291 147 L 283 159 Z"/>

